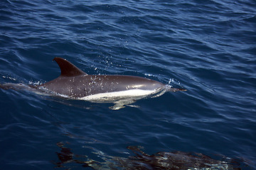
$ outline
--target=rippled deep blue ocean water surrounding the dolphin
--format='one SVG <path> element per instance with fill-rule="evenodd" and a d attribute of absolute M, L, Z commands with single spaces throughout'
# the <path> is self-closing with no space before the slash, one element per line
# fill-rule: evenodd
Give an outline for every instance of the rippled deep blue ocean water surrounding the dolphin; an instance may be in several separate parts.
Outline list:
<path fill-rule="evenodd" d="M 0 169 L 125 169 L 85 162 L 127 160 L 129 146 L 256 169 L 255 30 L 254 0 L 1 1 L 0 83 L 55 79 L 52 60 L 64 57 L 87 74 L 188 91 L 112 111 L 112 103 L 0 89 Z"/>

